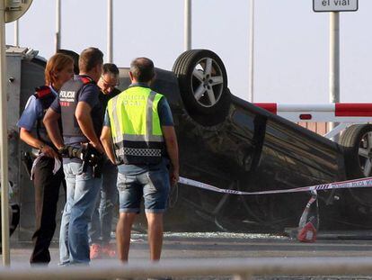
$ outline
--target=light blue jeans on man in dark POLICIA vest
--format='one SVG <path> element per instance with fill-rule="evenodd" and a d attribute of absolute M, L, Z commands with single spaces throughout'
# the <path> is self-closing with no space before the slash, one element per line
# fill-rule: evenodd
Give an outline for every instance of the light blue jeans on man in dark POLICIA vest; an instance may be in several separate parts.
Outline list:
<path fill-rule="evenodd" d="M 93 178 L 92 167 L 83 173 L 83 164 L 64 163 L 66 205 L 59 235 L 60 265 L 87 264 L 89 258 L 88 223 L 98 198 L 101 178 Z"/>

